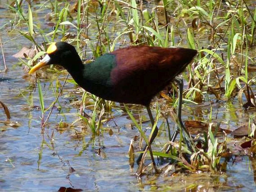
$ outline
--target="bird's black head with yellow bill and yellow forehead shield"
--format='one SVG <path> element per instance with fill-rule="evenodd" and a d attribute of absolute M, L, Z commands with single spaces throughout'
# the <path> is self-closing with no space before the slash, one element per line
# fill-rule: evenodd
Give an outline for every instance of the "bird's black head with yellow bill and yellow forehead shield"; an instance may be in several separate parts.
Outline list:
<path fill-rule="evenodd" d="M 81 61 L 75 47 L 62 41 L 51 43 L 46 53 L 47 55 L 30 69 L 29 74 L 32 74 L 45 65 L 62 65 L 64 68 L 68 69 L 70 65 Z"/>

